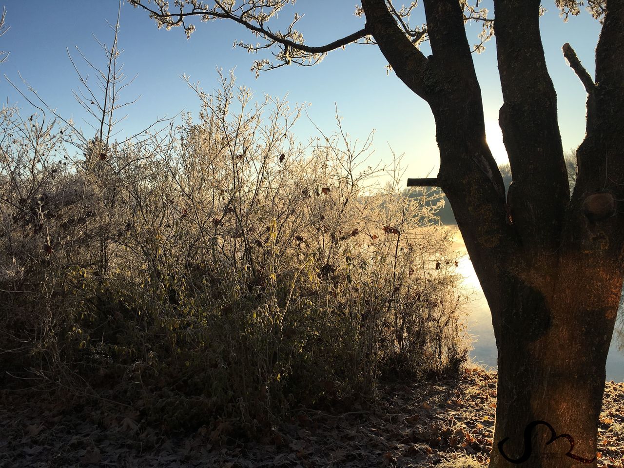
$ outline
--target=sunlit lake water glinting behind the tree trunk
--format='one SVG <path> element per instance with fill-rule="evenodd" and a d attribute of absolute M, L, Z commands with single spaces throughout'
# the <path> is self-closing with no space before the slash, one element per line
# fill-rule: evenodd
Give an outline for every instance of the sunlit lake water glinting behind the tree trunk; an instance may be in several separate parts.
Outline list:
<path fill-rule="evenodd" d="M 474 348 L 470 351 L 470 358 L 475 363 L 495 368 L 497 351 L 490 308 L 487 306 L 479 280 L 472 268 L 472 262 L 466 253 L 466 245 L 459 232 L 455 235 L 453 248 L 461 255 L 457 270 L 464 276 L 464 289 L 472 293 L 470 303 L 465 306 L 468 312 L 468 333 L 472 337 Z M 624 382 L 624 353 L 618 351 L 615 339 L 611 343 L 607 357 L 607 380 Z"/>

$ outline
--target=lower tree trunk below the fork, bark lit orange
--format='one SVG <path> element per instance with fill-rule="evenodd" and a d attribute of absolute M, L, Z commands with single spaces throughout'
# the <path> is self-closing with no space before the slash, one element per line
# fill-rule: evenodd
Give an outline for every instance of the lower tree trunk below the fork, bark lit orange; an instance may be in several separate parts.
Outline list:
<path fill-rule="evenodd" d="M 507 303 L 492 310 L 499 351 L 492 467 L 514 465 L 503 453 L 514 461 L 528 456 L 523 466 L 529 467 L 595 466 L 605 361 L 622 276 L 613 265 L 593 260 L 583 254 L 560 261 L 552 271 L 558 277 L 554 291 L 510 279 Z M 540 282 L 536 276 L 532 283 Z M 552 429 L 535 426 L 529 447 L 525 432 L 533 421 Z M 562 434 L 570 438 L 547 444 Z"/>

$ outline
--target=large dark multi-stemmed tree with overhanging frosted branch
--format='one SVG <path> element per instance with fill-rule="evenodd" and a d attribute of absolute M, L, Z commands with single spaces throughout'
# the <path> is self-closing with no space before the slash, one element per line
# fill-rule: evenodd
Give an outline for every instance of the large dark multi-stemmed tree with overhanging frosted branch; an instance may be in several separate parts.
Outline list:
<path fill-rule="evenodd" d="M 440 170 L 435 183 L 414 183 L 446 192 L 492 311 L 499 380 L 490 466 L 596 466 L 605 362 L 624 265 L 624 0 L 593 2 L 606 11 L 595 82 L 572 48 L 563 47 L 588 94 L 572 195 L 557 95 L 540 39 L 539 0 L 494 0 L 504 98 L 499 122 L 513 175 L 507 194 L 485 141 L 460 1 L 423 0 L 429 57 L 412 44 L 416 36 L 401 29 L 405 25 L 388 0 L 361 0 L 364 29 L 322 47 L 303 44 L 291 28 L 285 35 L 271 32 L 263 26 L 266 17 L 253 22 L 248 12 L 265 11 L 264 2 L 247 0 L 249 9 L 239 16 L 230 2 L 217 0 L 210 11 L 187 0 L 182 6 L 192 9 L 180 14 L 130 2 L 164 24 L 183 24 L 187 32 L 184 20 L 193 15 L 238 22 L 268 46 L 282 47 L 275 56 L 281 65 L 372 36 L 397 77 L 431 107 Z M 277 4 L 275 11 L 285 2 Z"/>

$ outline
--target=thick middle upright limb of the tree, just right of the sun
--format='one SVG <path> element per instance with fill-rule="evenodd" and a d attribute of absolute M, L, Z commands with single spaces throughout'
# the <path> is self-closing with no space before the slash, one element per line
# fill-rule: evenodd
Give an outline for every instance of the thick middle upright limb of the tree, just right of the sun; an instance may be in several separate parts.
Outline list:
<path fill-rule="evenodd" d="M 537 255 L 555 251 L 570 200 L 557 94 L 540 36 L 540 0 L 494 0 L 504 104 L 499 123 L 514 185 L 514 226 Z"/>

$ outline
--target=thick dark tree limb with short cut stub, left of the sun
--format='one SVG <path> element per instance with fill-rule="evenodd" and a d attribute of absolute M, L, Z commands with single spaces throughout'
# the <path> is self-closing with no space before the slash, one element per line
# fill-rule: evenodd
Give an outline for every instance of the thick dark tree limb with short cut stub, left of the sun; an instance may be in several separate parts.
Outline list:
<path fill-rule="evenodd" d="M 504 208 L 505 187 L 485 140 L 481 90 L 461 4 L 425 0 L 424 9 L 433 51 L 426 62 L 424 97 L 436 120 L 440 170 L 437 178 L 409 180 L 409 185 L 444 190 L 483 278 L 483 265 L 493 265 L 517 248 Z M 489 300 L 497 299 L 490 295 Z"/>

